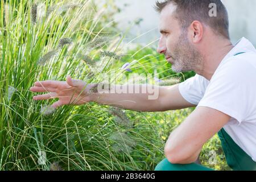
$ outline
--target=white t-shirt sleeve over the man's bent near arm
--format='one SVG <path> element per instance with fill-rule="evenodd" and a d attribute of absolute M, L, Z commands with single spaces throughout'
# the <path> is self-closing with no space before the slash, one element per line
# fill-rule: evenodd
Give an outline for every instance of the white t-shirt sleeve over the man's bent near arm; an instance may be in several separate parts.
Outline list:
<path fill-rule="evenodd" d="M 255 85 L 253 65 L 229 61 L 212 77 L 197 107 L 216 109 L 241 123 L 255 110 Z"/>

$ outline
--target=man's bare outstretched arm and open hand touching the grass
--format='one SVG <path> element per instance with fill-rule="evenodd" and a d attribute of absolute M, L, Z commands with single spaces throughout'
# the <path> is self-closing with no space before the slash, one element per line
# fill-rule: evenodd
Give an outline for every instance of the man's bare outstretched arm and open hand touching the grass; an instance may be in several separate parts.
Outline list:
<path fill-rule="evenodd" d="M 148 92 L 148 85 L 133 85 L 139 90 L 147 90 L 145 93 L 99 93 L 92 92 L 97 84 L 87 84 L 81 80 L 73 80 L 70 76 L 66 81 L 38 81 L 31 87 L 32 92 L 48 92 L 35 96 L 34 100 L 48 100 L 59 98 L 52 106 L 82 105 L 86 102 L 122 107 L 123 109 L 137 111 L 166 111 L 183 109 L 194 105 L 185 101 L 179 92 L 179 85 L 158 87 L 154 99 L 149 99 L 152 92 Z M 130 86 L 130 85 L 128 85 Z M 119 87 L 114 85 L 114 87 Z M 152 90 L 151 90 L 152 91 Z"/>

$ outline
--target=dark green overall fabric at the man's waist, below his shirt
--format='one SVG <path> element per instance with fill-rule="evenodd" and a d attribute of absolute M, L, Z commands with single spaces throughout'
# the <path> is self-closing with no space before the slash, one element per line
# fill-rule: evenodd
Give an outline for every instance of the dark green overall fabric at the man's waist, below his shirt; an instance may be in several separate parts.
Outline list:
<path fill-rule="evenodd" d="M 224 129 L 218 132 L 226 162 L 234 171 L 255 171 L 256 162 L 226 133 Z"/>

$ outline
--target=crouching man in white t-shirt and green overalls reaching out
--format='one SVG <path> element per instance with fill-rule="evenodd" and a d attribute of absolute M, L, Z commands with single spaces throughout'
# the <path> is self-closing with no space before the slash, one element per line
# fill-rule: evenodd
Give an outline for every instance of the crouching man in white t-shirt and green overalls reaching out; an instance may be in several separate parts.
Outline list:
<path fill-rule="evenodd" d="M 216 16 L 210 16 L 210 4 Z M 256 50 L 242 38 L 229 39 L 228 13 L 220 0 L 156 2 L 160 13 L 158 52 L 175 72 L 197 75 L 171 87 L 160 87 L 159 98 L 148 94 L 88 94 L 94 84 L 72 80 L 35 82 L 33 92 L 51 92 L 34 100 L 59 98 L 53 107 L 84 104 L 119 106 L 139 111 L 166 111 L 196 106 L 167 140 L 166 159 L 156 170 L 210 170 L 196 164 L 201 148 L 218 133 L 229 166 L 256 169 Z M 82 92 L 82 89 L 86 89 Z M 81 94 L 82 93 L 82 94 Z"/>

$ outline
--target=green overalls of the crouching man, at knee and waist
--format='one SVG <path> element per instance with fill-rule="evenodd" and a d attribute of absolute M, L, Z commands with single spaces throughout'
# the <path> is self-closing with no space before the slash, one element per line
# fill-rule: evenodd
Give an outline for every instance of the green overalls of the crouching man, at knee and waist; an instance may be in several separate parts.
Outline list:
<path fill-rule="evenodd" d="M 224 129 L 218 132 L 218 137 L 230 168 L 234 171 L 256 171 L 256 162 L 234 142 Z M 171 164 L 164 159 L 156 166 L 155 171 L 213 171 L 213 169 L 196 163 Z"/>

